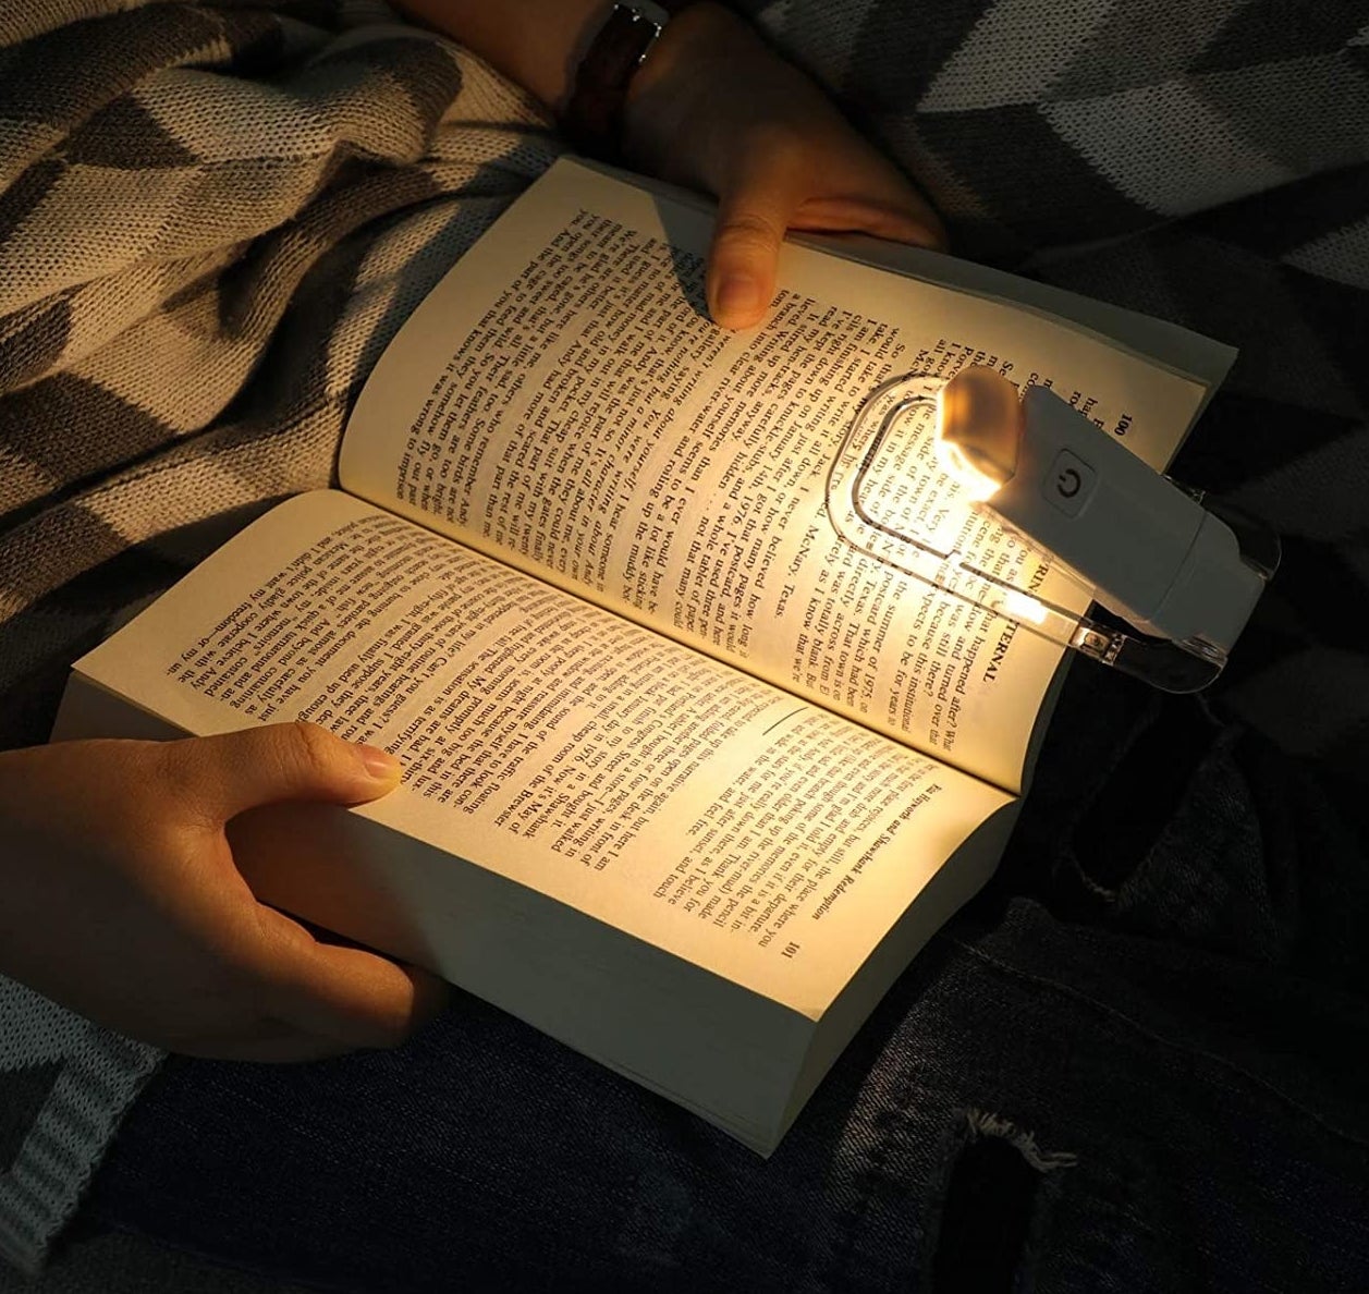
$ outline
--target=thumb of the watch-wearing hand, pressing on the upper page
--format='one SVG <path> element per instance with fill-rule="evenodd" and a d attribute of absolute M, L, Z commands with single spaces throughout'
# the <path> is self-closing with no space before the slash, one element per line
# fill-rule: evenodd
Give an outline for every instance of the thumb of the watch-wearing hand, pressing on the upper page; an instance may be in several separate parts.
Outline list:
<path fill-rule="evenodd" d="M 753 168 L 723 194 L 708 252 L 706 293 L 713 322 L 724 329 L 760 323 L 775 296 L 779 245 L 798 207 L 793 178 Z"/>

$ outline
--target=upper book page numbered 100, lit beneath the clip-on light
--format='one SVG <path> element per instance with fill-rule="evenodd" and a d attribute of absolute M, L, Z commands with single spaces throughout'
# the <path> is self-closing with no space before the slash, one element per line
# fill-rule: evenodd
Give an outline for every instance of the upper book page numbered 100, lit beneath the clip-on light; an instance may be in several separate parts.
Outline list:
<path fill-rule="evenodd" d="M 849 548 L 824 505 L 886 378 L 1053 385 L 1153 464 L 1201 383 L 983 296 L 786 245 L 767 322 L 702 296 L 709 218 L 559 163 L 419 307 L 349 423 L 345 489 L 1017 790 L 1062 649 Z M 954 504 L 946 478 L 891 482 Z M 939 524 L 1087 598 L 964 504 Z M 939 508 L 939 504 L 938 504 Z M 943 511 L 943 509 L 942 509 Z"/>

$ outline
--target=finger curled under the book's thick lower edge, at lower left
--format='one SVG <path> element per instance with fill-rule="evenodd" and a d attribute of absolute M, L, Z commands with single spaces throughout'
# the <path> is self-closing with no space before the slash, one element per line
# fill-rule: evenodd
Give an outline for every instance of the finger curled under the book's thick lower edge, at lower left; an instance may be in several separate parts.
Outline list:
<path fill-rule="evenodd" d="M 274 908 L 257 909 L 263 938 L 246 953 L 264 1013 L 353 1048 L 398 1046 L 439 1015 L 450 989 L 420 967 L 322 943 Z"/>

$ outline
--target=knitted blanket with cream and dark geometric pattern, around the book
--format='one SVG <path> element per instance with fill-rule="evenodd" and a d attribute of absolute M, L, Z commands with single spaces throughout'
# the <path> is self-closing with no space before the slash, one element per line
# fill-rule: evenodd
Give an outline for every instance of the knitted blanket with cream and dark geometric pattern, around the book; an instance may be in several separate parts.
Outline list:
<path fill-rule="evenodd" d="M 1285 564 L 1220 704 L 1369 781 L 1344 613 L 1369 590 L 1359 7 L 743 8 L 958 252 L 1242 348 L 1181 474 L 1268 519 Z M 527 96 L 379 4 L 0 10 L 5 746 L 44 739 L 111 619 L 330 482 L 386 341 L 559 148 Z M 0 1254 L 41 1267 L 159 1058 L 0 980 Z"/>

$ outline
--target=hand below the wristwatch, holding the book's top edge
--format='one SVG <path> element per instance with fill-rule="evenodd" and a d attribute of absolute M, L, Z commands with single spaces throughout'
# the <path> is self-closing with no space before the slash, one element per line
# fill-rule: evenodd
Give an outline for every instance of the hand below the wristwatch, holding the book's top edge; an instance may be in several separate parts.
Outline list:
<path fill-rule="evenodd" d="M 721 5 L 669 22 L 632 78 L 623 127 L 634 166 L 719 199 L 706 292 L 724 327 L 765 314 L 786 229 L 946 244 L 898 168 Z"/>

